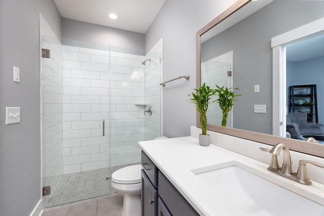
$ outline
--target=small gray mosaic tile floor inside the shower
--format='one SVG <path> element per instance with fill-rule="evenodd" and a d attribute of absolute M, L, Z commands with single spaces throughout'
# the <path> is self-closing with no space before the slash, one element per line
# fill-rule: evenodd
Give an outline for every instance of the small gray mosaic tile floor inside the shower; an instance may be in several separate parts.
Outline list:
<path fill-rule="evenodd" d="M 111 173 L 133 164 L 111 167 Z M 63 174 L 51 195 L 46 197 L 45 207 L 52 207 L 114 193 L 110 187 L 110 168 Z"/>

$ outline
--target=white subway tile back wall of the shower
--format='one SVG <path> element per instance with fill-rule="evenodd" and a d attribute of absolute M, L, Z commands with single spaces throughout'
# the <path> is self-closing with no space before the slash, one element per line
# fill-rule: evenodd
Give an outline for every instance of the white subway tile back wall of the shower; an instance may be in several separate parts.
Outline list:
<path fill-rule="evenodd" d="M 145 101 L 144 56 L 62 50 L 64 174 L 140 162 L 144 107 L 134 103 Z"/>

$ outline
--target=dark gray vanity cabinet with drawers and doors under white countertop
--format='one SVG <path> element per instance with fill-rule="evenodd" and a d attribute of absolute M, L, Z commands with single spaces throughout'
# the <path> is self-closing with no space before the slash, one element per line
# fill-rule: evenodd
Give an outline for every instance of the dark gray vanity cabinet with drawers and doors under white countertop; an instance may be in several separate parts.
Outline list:
<path fill-rule="evenodd" d="M 143 151 L 142 167 L 142 216 L 199 215 Z"/>

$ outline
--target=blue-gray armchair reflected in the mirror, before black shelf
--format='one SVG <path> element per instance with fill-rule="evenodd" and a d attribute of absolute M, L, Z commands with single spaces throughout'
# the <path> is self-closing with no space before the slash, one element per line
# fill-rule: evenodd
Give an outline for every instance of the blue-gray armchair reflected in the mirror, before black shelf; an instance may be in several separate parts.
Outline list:
<path fill-rule="evenodd" d="M 306 113 L 288 113 L 287 131 L 294 139 L 302 139 L 302 135 L 318 136 L 318 138 L 324 136 L 323 124 L 307 123 Z"/>

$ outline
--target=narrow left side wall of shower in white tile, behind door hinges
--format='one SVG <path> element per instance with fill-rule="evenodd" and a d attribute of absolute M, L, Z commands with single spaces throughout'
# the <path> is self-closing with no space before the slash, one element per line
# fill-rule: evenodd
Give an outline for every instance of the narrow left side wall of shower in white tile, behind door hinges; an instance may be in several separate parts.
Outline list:
<path fill-rule="evenodd" d="M 57 38 L 43 37 L 41 47 L 51 51 L 41 59 L 43 186 L 56 185 L 63 174 L 62 46 Z M 45 196 L 45 203 L 49 196 Z"/>

